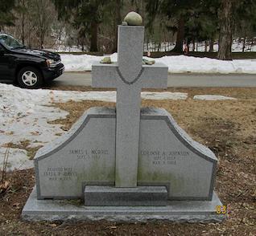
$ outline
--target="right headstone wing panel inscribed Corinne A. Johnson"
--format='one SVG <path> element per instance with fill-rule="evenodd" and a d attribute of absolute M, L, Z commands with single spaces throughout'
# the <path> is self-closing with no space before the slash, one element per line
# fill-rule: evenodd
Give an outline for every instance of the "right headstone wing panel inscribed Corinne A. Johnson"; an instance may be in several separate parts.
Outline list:
<path fill-rule="evenodd" d="M 177 128 L 169 114 L 142 114 L 138 185 L 167 185 L 169 199 L 211 200 L 216 165 L 214 154 Z"/>

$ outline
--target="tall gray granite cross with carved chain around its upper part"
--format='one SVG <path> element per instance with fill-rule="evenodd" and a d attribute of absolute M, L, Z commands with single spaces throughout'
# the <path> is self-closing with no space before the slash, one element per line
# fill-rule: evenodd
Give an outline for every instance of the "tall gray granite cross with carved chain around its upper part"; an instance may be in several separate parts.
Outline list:
<path fill-rule="evenodd" d="M 167 87 L 167 67 L 142 65 L 144 26 L 118 26 L 118 63 L 93 64 L 93 87 L 117 88 L 116 187 L 136 187 L 142 88 Z"/>

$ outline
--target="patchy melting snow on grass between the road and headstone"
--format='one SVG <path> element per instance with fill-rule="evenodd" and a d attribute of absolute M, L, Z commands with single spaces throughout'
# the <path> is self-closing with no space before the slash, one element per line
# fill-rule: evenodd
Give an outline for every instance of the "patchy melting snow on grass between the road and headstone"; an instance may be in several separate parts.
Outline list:
<path fill-rule="evenodd" d="M 182 92 L 142 92 L 142 99 L 185 100 L 188 94 Z M 116 92 L 72 92 L 47 89 L 29 90 L 0 83 L 0 168 L 6 144 L 20 144 L 26 141 L 28 147 L 45 145 L 64 134 L 60 124 L 48 121 L 64 118 L 68 112 L 56 108 L 52 103 L 68 100 L 116 101 Z M 27 169 L 33 161 L 23 149 L 10 149 L 7 169 Z"/>

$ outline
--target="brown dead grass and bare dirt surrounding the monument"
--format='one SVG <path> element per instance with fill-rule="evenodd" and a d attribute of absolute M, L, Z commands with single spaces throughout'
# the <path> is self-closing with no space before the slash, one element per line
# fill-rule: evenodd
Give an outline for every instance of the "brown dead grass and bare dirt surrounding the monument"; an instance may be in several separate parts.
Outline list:
<path fill-rule="evenodd" d="M 169 91 L 169 90 L 168 90 Z M 256 88 L 181 89 L 187 100 L 142 100 L 142 106 L 167 109 L 194 140 L 217 155 L 216 188 L 221 201 L 229 205 L 229 218 L 221 223 L 147 222 L 22 222 L 21 210 L 35 185 L 32 169 L 7 174 L 10 188 L 0 199 L 1 235 L 255 235 L 256 218 Z M 199 101 L 196 94 L 234 96 L 239 100 Z M 56 104 L 70 114 L 55 120 L 68 130 L 90 107 L 114 106 L 98 101 Z"/>

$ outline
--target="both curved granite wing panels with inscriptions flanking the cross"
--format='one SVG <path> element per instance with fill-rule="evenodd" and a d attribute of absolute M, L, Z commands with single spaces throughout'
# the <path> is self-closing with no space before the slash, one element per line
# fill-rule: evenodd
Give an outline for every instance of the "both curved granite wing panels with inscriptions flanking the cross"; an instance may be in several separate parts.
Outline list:
<path fill-rule="evenodd" d="M 210 200 L 217 166 L 213 152 L 192 140 L 164 109 L 142 108 L 140 117 L 137 184 L 165 185 L 168 199 Z M 85 185 L 114 185 L 115 120 L 114 108 L 90 109 L 65 136 L 40 149 L 35 158 L 39 198 L 82 198 Z"/>

